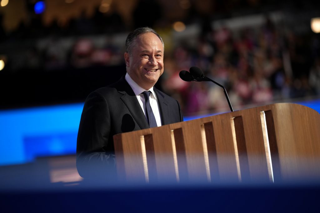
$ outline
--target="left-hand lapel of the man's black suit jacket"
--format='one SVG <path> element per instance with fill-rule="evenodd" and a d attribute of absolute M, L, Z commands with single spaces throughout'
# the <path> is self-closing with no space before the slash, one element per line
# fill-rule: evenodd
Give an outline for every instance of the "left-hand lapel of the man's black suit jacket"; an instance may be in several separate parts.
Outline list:
<path fill-rule="evenodd" d="M 119 93 L 123 94 L 121 100 L 128 107 L 133 119 L 138 123 L 140 129 L 149 128 L 147 119 L 130 85 L 126 82 L 124 77 L 121 78 L 118 83 L 119 87 L 117 87 L 117 90 Z"/>

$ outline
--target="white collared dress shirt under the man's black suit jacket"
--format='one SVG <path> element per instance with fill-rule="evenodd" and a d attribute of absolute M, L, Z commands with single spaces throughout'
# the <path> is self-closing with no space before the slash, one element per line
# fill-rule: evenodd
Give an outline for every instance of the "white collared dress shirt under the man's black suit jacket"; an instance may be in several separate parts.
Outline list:
<path fill-rule="evenodd" d="M 142 92 L 144 92 L 146 90 L 141 88 L 137 83 L 135 83 L 128 73 L 125 74 L 124 78 L 131 86 L 134 94 L 136 95 L 136 97 L 138 99 L 138 102 L 141 106 L 141 109 L 142 109 L 144 115 L 146 116 L 146 104 L 145 104 L 146 102 L 144 100 L 143 94 L 141 94 Z M 159 105 L 158 105 L 156 93 L 153 91 L 153 87 L 151 87 L 148 91 L 151 92 L 150 97 L 149 97 L 149 101 L 150 101 L 150 105 L 151 105 L 153 114 L 155 115 L 155 118 L 156 118 L 157 126 L 161 126 L 160 111 L 159 111 Z M 147 119 L 147 116 L 146 116 L 146 119 Z"/>

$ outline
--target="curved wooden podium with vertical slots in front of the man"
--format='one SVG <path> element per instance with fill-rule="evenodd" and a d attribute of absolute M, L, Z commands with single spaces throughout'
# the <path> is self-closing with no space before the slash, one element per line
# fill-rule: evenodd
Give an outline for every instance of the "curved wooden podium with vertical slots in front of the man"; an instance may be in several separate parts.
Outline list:
<path fill-rule="evenodd" d="M 278 103 L 114 136 L 127 181 L 290 182 L 320 178 L 320 114 Z"/>

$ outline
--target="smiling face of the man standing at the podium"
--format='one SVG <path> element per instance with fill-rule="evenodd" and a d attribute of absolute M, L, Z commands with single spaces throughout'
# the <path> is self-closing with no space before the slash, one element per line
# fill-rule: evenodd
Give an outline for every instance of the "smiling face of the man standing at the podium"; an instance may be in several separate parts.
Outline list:
<path fill-rule="evenodd" d="M 125 52 L 127 73 L 133 81 L 149 90 L 162 75 L 164 47 L 154 33 L 139 35 L 132 45 L 131 53 Z"/>

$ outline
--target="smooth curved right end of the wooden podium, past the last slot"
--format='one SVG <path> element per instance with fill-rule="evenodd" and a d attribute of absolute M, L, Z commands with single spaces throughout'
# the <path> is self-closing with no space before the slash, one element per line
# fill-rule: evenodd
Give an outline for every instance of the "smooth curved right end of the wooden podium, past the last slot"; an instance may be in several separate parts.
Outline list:
<path fill-rule="evenodd" d="M 301 105 L 272 106 L 283 180 L 320 177 L 320 116 Z"/>

